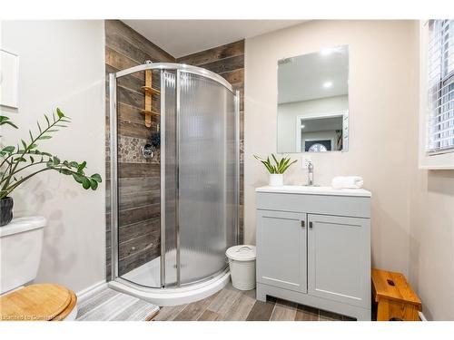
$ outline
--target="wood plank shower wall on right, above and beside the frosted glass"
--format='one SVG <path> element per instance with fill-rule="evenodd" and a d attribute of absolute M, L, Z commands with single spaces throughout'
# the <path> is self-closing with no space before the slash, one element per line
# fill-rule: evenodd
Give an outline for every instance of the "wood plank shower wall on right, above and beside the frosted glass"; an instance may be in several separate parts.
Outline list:
<path fill-rule="evenodd" d="M 244 174 L 244 40 L 214 47 L 177 58 L 177 63 L 187 63 L 218 73 L 234 90 L 240 91 L 240 242 L 243 242 L 243 174 Z"/>

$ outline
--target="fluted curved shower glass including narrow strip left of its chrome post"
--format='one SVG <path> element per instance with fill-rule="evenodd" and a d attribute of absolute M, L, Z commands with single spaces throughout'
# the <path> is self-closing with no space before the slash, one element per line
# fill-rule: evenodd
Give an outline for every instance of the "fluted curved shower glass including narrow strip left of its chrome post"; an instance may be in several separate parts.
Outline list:
<path fill-rule="evenodd" d="M 162 279 L 164 287 L 179 287 L 222 271 L 225 250 L 236 243 L 235 97 L 202 75 L 165 71 L 162 77 Z"/>

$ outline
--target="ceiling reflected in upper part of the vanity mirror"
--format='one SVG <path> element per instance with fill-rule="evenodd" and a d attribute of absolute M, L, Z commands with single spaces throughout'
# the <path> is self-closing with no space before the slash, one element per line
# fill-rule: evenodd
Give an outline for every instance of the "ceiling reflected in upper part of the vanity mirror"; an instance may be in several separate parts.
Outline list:
<path fill-rule="evenodd" d="M 327 82 L 332 83 L 330 88 L 323 87 L 323 83 Z M 278 86 L 279 103 L 348 94 L 348 47 L 336 47 L 281 61 Z"/>

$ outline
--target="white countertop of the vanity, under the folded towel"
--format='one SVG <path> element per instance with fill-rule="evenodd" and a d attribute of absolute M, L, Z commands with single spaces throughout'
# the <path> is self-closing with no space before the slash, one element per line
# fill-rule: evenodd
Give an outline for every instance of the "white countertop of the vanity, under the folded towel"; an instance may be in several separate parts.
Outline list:
<path fill-rule="evenodd" d="M 356 196 L 371 197 L 372 194 L 366 189 L 334 189 L 331 187 L 308 187 L 304 185 L 284 185 L 281 187 L 260 187 L 256 192 L 277 192 L 301 195 L 331 195 L 331 196 Z"/>

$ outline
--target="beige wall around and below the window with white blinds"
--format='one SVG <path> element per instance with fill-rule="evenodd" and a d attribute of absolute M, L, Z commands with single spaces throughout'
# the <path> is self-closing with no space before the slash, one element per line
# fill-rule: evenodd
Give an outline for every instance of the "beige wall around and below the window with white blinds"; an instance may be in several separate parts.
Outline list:
<path fill-rule="evenodd" d="M 413 34 L 411 52 L 418 55 L 418 23 Z M 418 135 L 416 109 L 410 119 L 409 279 L 429 320 L 454 320 L 454 170 L 419 170 Z"/>

